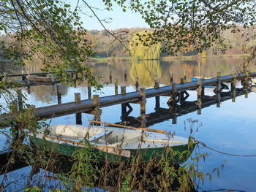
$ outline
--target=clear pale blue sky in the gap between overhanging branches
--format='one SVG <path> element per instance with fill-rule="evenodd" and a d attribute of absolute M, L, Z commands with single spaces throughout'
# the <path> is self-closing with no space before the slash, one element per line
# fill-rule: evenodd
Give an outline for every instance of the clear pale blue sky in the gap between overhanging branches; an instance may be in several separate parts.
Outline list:
<path fill-rule="evenodd" d="M 72 5 L 72 8 L 75 8 L 75 5 L 77 3 L 77 0 L 69 0 L 67 1 L 69 4 Z M 86 2 L 91 7 L 97 7 L 99 9 L 94 9 L 94 12 L 97 14 L 99 19 L 103 20 L 106 18 L 112 18 L 110 23 L 104 23 L 105 27 L 114 30 L 117 28 L 148 28 L 148 25 L 145 23 L 145 21 L 141 18 L 140 14 L 131 12 L 130 10 L 127 10 L 127 12 L 123 12 L 122 8 L 119 7 L 114 1 L 113 1 L 113 11 L 105 10 L 105 5 L 102 2 L 102 0 L 86 0 Z M 83 4 L 83 1 L 80 1 L 80 5 Z M 93 15 L 90 9 L 84 8 L 83 12 L 85 14 L 81 14 L 81 20 L 84 23 L 84 28 L 91 30 L 91 29 L 97 29 L 97 30 L 103 30 L 104 28 L 100 25 L 99 21 L 96 18 L 90 18 L 89 15 Z"/>

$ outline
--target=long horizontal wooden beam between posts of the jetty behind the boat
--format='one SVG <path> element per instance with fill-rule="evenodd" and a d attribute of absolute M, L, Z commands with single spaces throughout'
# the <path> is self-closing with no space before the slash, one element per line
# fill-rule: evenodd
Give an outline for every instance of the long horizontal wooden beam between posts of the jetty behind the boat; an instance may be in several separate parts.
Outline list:
<path fill-rule="evenodd" d="M 243 79 L 246 74 L 236 74 L 236 79 Z M 256 77 L 256 73 L 249 73 L 249 77 Z M 233 80 L 232 75 L 220 77 L 221 82 L 231 82 Z M 211 78 L 202 80 L 202 85 L 213 85 L 217 83 L 217 78 Z M 185 91 L 197 88 L 197 82 L 185 82 L 184 84 L 178 84 L 176 91 Z M 163 86 L 160 88 L 146 89 L 146 98 L 155 96 L 167 96 L 172 93 L 172 86 Z M 103 96 L 99 98 L 99 107 L 108 107 L 115 104 L 125 104 L 130 102 L 140 101 L 140 91 L 134 91 L 126 94 L 118 94 L 113 96 Z M 39 119 L 42 118 L 56 118 L 62 115 L 69 115 L 78 112 L 91 112 L 96 106 L 93 104 L 93 99 L 86 99 L 80 102 L 69 102 L 65 104 L 56 104 L 48 107 L 39 107 L 35 110 Z M 1 115 L 0 123 L 6 120 L 14 120 L 17 115 Z"/>

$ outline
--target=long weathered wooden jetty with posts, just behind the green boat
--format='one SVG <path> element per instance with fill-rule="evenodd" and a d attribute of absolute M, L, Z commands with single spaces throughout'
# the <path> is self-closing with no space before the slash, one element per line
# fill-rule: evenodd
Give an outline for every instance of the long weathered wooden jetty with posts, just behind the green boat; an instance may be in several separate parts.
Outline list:
<path fill-rule="evenodd" d="M 154 88 L 140 88 L 140 91 L 134 91 L 126 93 L 126 88 L 121 87 L 121 94 L 113 96 L 94 95 L 93 99 L 80 100 L 80 93 L 75 94 L 75 101 L 65 104 L 56 104 L 48 107 L 39 107 L 35 109 L 38 119 L 42 118 L 56 118 L 62 115 L 69 115 L 76 113 L 77 123 L 81 123 L 81 112 L 89 113 L 94 115 L 94 119 L 100 121 L 100 115 L 102 107 L 108 107 L 115 104 L 121 104 L 122 116 L 127 116 L 127 107 L 132 110 L 129 103 L 140 104 L 140 122 L 142 127 L 146 126 L 146 99 L 155 97 L 156 107 L 159 107 L 159 96 L 170 96 L 167 102 L 170 109 L 174 109 L 178 102 L 184 102 L 189 94 L 187 90 L 197 91 L 197 107 L 202 108 L 202 96 L 204 96 L 204 86 L 216 85 L 214 93 L 216 93 L 217 104 L 221 101 L 220 93 L 222 92 L 221 82 L 231 82 L 230 95 L 236 98 L 236 80 L 241 80 L 244 86 L 244 91 L 248 90 L 249 77 L 256 77 L 256 73 L 242 73 L 242 74 L 231 74 L 227 76 L 220 76 L 218 73 L 217 77 L 204 80 L 198 79 L 197 82 L 187 82 L 183 77 L 181 84 L 171 82 L 171 85 L 159 87 L 159 82 L 155 81 Z M 137 78 L 136 78 L 137 79 Z M 170 78 L 170 80 L 172 80 Z M 136 83 L 136 90 L 138 90 L 138 83 Z M 248 91 L 246 92 L 248 93 Z M 89 93 L 91 94 L 91 93 Z M 22 110 L 19 110 L 22 112 Z M 128 111 L 129 112 L 129 111 Z M 19 112 L 9 113 L 7 115 L 0 116 L 0 123 L 4 123 L 6 120 L 15 120 Z"/>

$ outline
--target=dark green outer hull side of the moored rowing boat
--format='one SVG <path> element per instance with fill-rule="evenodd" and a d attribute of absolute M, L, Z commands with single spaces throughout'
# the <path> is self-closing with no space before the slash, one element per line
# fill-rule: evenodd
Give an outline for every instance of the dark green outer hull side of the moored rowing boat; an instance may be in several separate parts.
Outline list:
<path fill-rule="evenodd" d="M 88 147 L 80 147 L 78 145 L 68 145 L 60 144 L 56 142 L 50 142 L 48 140 L 39 139 L 37 137 L 31 137 L 34 145 L 37 147 L 44 145 L 47 151 L 53 151 L 53 153 L 64 155 L 67 157 L 72 157 L 72 154 L 77 150 L 88 150 Z M 106 161 L 110 163 L 125 162 L 129 163 L 132 161 L 139 161 L 140 163 L 152 161 L 154 163 L 160 160 L 167 160 L 173 164 L 183 164 L 192 153 L 195 145 L 188 149 L 188 145 L 177 145 L 172 147 L 154 147 L 154 148 L 138 148 L 138 149 L 125 149 L 129 150 L 131 156 L 129 158 L 116 155 L 112 153 L 107 153 L 102 150 L 98 150 L 95 147 L 90 149 L 91 160 L 96 161 Z"/>

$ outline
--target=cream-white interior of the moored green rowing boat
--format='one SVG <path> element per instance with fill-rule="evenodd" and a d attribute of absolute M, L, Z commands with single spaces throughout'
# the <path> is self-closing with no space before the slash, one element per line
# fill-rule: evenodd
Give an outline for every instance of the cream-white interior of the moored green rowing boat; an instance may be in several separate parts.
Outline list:
<path fill-rule="evenodd" d="M 187 138 L 184 137 L 170 137 L 165 134 L 142 132 L 141 130 L 127 128 L 61 124 L 50 126 L 49 131 L 50 136 L 53 137 L 69 139 L 73 142 L 87 139 L 91 144 L 97 146 L 138 148 L 138 145 L 140 145 L 142 148 L 148 148 L 187 144 Z"/>

